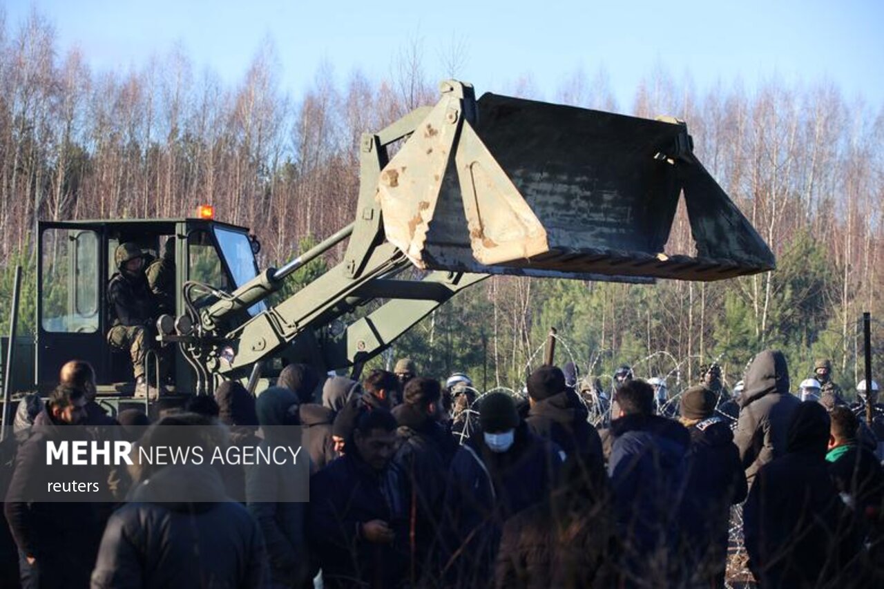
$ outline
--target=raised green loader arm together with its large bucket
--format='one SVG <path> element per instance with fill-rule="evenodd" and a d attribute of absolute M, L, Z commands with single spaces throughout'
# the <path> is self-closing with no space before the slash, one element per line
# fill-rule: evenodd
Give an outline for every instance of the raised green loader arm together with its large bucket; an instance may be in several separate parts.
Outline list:
<path fill-rule="evenodd" d="M 218 294 L 184 334 L 192 365 L 228 378 L 290 348 L 326 369 L 362 363 L 494 273 L 651 283 L 773 269 L 770 249 L 692 153 L 684 124 L 507 96 L 476 101 L 454 80 L 440 89 L 434 107 L 362 135 L 354 222 L 305 255 L 348 239 L 340 264 L 240 325 L 228 324 L 301 262 Z M 664 251 L 682 193 L 696 257 Z M 342 332 L 325 329 L 377 299 L 386 302 Z"/>

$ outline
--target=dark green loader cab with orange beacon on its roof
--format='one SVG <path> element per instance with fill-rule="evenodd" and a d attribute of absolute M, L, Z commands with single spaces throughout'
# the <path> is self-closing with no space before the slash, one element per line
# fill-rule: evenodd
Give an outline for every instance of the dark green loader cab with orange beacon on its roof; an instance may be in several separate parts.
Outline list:
<path fill-rule="evenodd" d="M 146 269 L 162 256 L 165 241 L 174 240 L 174 310 L 165 311 L 173 317 L 185 313 L 181 293 L 188 281 L 231 292 L 255 277 L 257 241 L 247 228 L 215 221 L 210 213 L 201 207 L 201 218 L 39 223 L 33 382 L 42 393 L 57 384 L 60 367 L 72 358 L 93 365 L 101 393 L 125 394 L 133 388 L 128 352 L 107 341 L 113 318 L 107 287 L 118 272 L 114 251 L 119 244 L 136 243 Z M 263 303 L 248 312 L 261 310 Z M 187 392 L 193 371 L 175 348 L 168 355 L 173 365 L 167 373 L 179 392 Z"/>

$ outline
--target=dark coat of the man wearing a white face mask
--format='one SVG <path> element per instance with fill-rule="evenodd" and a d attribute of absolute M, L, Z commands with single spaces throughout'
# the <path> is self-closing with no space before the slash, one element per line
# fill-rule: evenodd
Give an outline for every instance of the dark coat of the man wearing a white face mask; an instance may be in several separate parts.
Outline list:
<path fill-rule="evenodd" d="M 445 498 L 445 554 L 451 564 L 446 580 L 457 586 L 488 584 L 503 523 L 549 496 L 559 476 L 560 452 L 524 423 L 507 452 L 488 449 L 482 432 L 457 451 Z"/>

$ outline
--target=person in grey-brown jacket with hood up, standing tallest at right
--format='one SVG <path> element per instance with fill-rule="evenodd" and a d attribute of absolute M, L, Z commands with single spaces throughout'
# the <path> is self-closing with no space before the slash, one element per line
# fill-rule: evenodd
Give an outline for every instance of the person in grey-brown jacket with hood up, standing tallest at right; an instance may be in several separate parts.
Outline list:
<path fill-rule="evenodd" d="M 755 356 L 743 382 L 734 443 L 751 486 L 758 469 L 785 453 L 789 420 L 800 401 L 789 392 L 789 366 L 781 351 Z"/>

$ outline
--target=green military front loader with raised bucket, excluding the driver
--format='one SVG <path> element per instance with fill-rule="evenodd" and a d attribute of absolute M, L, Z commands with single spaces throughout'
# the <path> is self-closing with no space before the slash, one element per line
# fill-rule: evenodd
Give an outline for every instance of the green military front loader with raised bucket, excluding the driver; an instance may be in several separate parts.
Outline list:
<path fill-rule="evenodd" d="M 211 394 L 224 379 L 257 392 L 292 362 L 358 372 L 492 274 L 652 283 L 773 269 L 681 121 L 476 100 L 454 80 L 440 93 L 435 106 L 362 135 L 354 221 L 280 268 L 259 269 L 248 229 L 208 214 L 41 222 L 36 339 L 17 342 L 30 370 L 16 372 L 14 390 L 45 393 L 77 357 L 95 366 L 108 399 L 131 395 L 128 356 L 106 340 L 105 294 L 124 241 L 159 255 L 161 241 L 174 240 L 174 310 L 156 321 L 157 346 L 174 349 L 163 356 L 174 374 L 169 400 Z M 682 197 L 693 255 L 665 251 Z M 345 241 L 338 265 L 269 304 L 286 277 Z M 156 356 L 148 363 L 156 371 Z"/>

